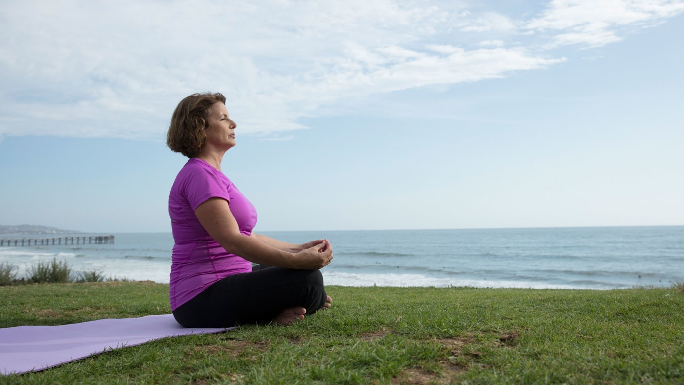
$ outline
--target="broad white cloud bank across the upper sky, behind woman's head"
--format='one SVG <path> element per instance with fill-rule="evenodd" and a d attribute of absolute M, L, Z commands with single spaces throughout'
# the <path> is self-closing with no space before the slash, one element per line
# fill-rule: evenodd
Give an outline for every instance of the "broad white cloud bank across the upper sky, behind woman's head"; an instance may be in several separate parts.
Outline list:
<path fill-rule="evenodd" d="M 527 30 L 601 45 L 618 39 L 615 25 L 681 9 L 629 3 L 599 17 L 582 4 L 553 1 Z M 506 46 L 525 22 L 431 1 L 22 1 L 1 3 L 0 23 L 0 135 L 161 139 L 176 103 L 207 90 L 226 94 L 244 133 L 263 135 L 302 129 L 340 98 L 562 60 Z"/>

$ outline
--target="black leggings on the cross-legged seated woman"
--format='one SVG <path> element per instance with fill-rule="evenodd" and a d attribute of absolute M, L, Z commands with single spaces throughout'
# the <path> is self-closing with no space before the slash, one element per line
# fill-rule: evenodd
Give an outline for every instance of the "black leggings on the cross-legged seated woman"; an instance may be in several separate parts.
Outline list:
<path fill-rule="evenodd" d="M 311 315 L 326 304 L 319 270 L 257 265 L 251 273 L 227 276 L 185 302 L 173 315 L 185 328 L 228 328 L 272 321 L 286 308 Z"/>

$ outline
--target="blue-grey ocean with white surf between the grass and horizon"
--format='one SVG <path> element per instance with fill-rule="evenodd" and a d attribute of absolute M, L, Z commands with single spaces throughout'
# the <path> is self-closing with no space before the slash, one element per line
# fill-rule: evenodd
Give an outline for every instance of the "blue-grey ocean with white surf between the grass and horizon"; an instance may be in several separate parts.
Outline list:
<path fill-rule="evenodd" d="M 322 270 L 326 284 L 616 289 L 684 282 L 684 226 L 263 234 L 292 243 L 328 238 L 334 259 Z M 75 272 L 168 282 L 171 233 L 114 236 L 113 244 L 5 246 L 0 262 L 15 265 L 20 278 L 31 264 L 57 258 Z"/>

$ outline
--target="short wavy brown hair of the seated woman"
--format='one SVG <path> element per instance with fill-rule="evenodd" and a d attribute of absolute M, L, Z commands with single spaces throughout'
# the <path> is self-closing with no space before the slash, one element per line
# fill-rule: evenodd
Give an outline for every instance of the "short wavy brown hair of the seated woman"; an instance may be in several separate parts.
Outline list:
<path fill-rule="evenodd" d="M 171 116 L 166 146 L 188 158 L 196 157 L 207 142 L 209 113 L 214 103 L 226 104 L 226 96 L 218 92 L 202 92 L 184 98 Z"/>

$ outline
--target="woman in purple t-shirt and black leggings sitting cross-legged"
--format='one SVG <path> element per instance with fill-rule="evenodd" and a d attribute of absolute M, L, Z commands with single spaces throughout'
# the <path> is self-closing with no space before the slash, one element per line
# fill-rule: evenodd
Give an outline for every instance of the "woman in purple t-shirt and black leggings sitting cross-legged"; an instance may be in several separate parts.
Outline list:
<path fill-rule="evenodd" d="M 332 261 L 327 239 L 295 245 L 252 232 L 254 206 L 221 171 L 236 127 L 222 94 L 192 94 L 176 107 L 166 137 L 189 158 L 169 194 L 169 298 L 186 328 L 288 325 L 330 307 L 319 271 Z"/>

